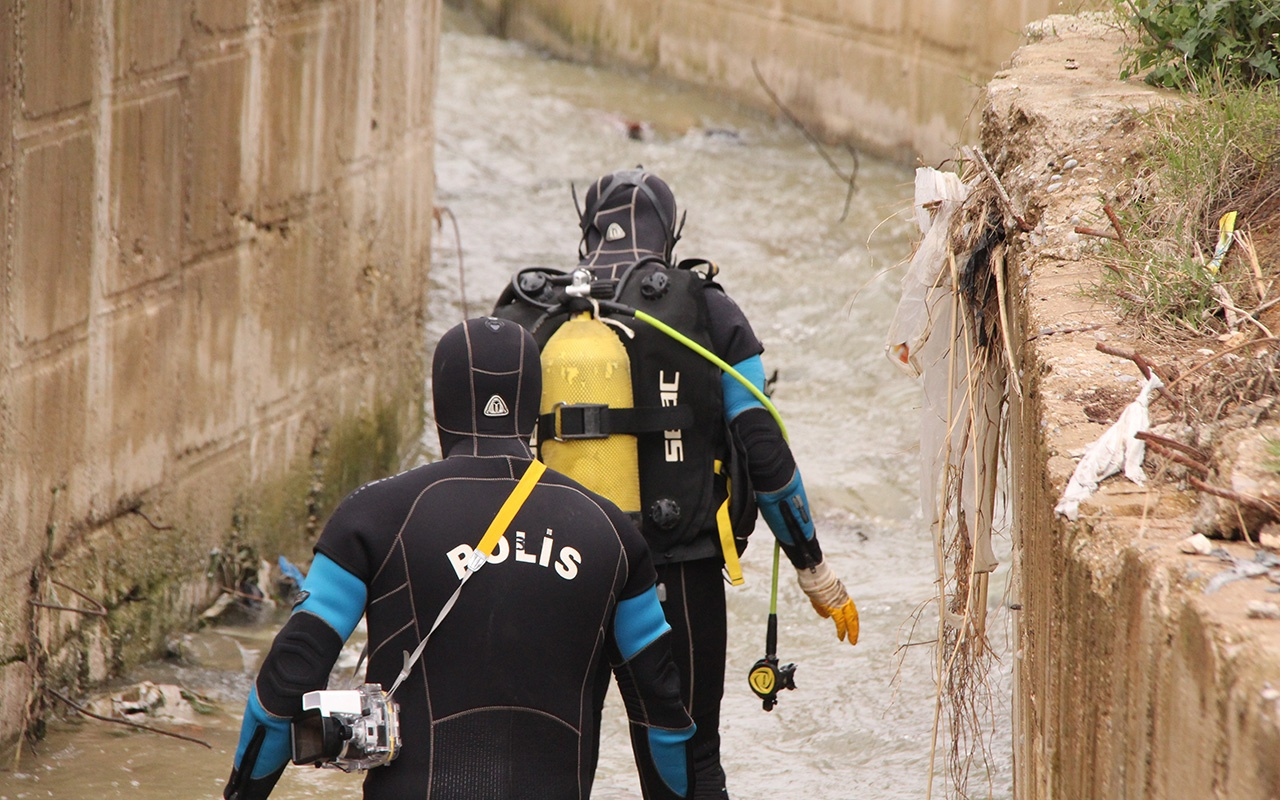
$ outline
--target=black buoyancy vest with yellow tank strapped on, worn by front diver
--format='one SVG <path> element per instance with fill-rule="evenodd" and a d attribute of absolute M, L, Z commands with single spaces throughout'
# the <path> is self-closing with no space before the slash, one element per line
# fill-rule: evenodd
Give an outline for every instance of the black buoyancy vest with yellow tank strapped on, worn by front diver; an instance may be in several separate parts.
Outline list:
<path fill-rule="evenodd" d="M 632 513 L 659 562 L 719 554 L 737 585 L 755 502 L 724 421 L 721 374 L 772 403 L 710 351 L 704 293 L 716 271 L 654 256 L 617 278 L 527 268 L 495 314 L 543 348 L 539 456 Z M 700 536 L 705 530 L 718 541 Z"/>

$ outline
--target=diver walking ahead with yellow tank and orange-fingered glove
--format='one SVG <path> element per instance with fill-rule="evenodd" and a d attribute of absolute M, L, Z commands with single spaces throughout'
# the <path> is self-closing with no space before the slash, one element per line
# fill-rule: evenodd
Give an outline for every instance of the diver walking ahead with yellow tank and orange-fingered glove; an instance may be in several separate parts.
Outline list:
<path fill-rule="evenodd" d="M 764 346 L 737 303 L 713 280 L 714 265 L 675 260 L 682 220 L 677 220 L 676 200 L 664 180 L 644 169 L 604 175 L 588 189 L 579 215 L 580 266 L 591 270 L 591 297 L 608 296 L 596 293 L 596 288 L 616 287 L 620 302 L 667 323 L 763 392 Z M 541 296 L 517 291 L 517 275 L 494 314 L 529 326 L 545 344 L 566 315 L 557 311 L 550 288 L 536 275 L 531 278 L 535 282 L 527 287 Z M 718 530 L 717 509 L 728 492 L 722 474 L 713 479 L 717 463 L 745 465 L 746 474 L 733 477 L 736 485 L 751 486 L 760 515 L 796 568 L 800 588 L 820 616 L 833 620 L 841 641 L 858 641 L 858 608 L 823 559 L 800 471 L 764 404 L 736 379 L 668 335 L 640 321 L 622 324 L 631 332 L 621 339 L 631 360 L 639 412 L 634 416 L 669 412 L 667 419 L 675 420 L 678 407 L 687 413 L 684 422 L 620 425 L 607 433 L 636 436 L 641 531 L 653 549 L 685 701 L 698 723 L 692 749 L 695 796 L 727 797 L 719 762 L 727 640 L 722 570 L 730 559 L 736 562 L 736 553 L 731 553 L 732 544 L 726 544 L 730 536 Z M 543 439 L 562 430 L 557 425 L 567 424 L 557 417 L 548 425 L 545 416 L 539 426 Z M 745 547 L 754 522 L 754 513 L 748 516 L 746 531 L 733 526 L 737 549 Z M 640 751 L 644 742 L 636 745 Z"/>

